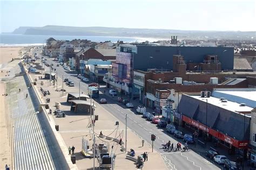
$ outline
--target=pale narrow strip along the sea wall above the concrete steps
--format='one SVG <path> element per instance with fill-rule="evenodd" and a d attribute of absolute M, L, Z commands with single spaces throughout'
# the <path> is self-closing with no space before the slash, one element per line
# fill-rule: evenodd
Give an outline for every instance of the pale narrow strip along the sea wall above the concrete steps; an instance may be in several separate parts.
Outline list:
<path fill-rule="evenodd" d="M 26 67 L 23 65 L 23 63 L 22 63 L 22 66 L 23 66 L 23 68 L 24 68 L 24 70 L 25 70 L 26 75 L 29 77 L 31 87 L 32 87 L 33 90 L 36 92 L 36 96 L 37 96 L 38 100 L 40 101 L 41 104 L 43 104 L 44 101 L 43 101 L 42 98 L 40 97 L 40 93 L 38 92 L 38 90 L 37 90 L 37 88 L 35 87 L 35 85 L 33 85 L 33 81 L 32 81 L 32 79 L 31 79 L 31 77 L 30 77 L 30 75 L 29 75 L 29 73 L 28 73 L 28 70 L 27 70 Z M 78 167 L 77 167 L 76 164 L 72 164 L 72 161 L 71 161 L 71 159 L 70 159 L 70 156 L 64 154 L 65 152 L 67 152 L 67 148 L 68 148 L 68 147 L 65 145 L 65 142 L 64 142 L 64 140 L 63 140 L 63 138 L 62 138 L 62 135 L 60 135 L 60 133 L 55 130 L 55 121 L 53 120 L 52 117 L 49 117 L 48 112 L 46 111 L 45 107 L 42 107 L 42 110 L 43 110 L 43 114 L 45 114 L 45 117 L 47 117 L 48 120 L 49 120 L 49 124 L 50 124 L 50 126 L 51 126 L 51 130 L 52 130 L 53 134 L 54 134 L 55 137 L 56 137 L 56 140 L 57 140 L 57 142 L 58 142 L 58 145 L 59 145 L 59 147 L 60 147 L 60 149 L 61 149 L 61 151 L 62 151 L 62 153 L 63 153 L 63 156 L 64 156 L 64 158 L 65 158 L 65 160 L 66 160 L 66 162 L 67 162 L 67 164 L 68 164 L 68 166 L 69 166 L 69 169 L 74 169 L 74 170 L 75 170 L 75 169 L 78 169 Z"/>

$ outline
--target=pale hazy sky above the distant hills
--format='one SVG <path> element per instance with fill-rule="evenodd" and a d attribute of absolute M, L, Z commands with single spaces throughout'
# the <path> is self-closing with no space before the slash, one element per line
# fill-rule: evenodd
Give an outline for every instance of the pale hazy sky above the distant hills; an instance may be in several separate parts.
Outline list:
<path fill-rule="evenodd" d="M 254 0 L 0 0 L 0 32 L 19 26 L 256 31 Z"/>

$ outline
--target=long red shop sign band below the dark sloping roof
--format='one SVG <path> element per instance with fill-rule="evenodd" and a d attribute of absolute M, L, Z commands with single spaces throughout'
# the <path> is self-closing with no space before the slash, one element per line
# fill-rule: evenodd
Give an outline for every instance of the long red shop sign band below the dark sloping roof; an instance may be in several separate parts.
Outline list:
<path fill-rule="evenodd" d="M 212 128 L 208 128 L 208 127 L 206 128 L 205 125 L 198 123 L 197 121 L 195 121 L 191 118 L 188 118 L 185 115 L 182 116 L 182 120 L 188 124 L 198 127 L 200 130 L 203 130 L 205 132 L 207 131 L 207 133 L 211 134 L 213 137 L 223 140 L 223 141 L 227 142 L 228 144 L 233 145 L 234 147 L 247 148 L 247 146 L 248 146 L 248 141 L 239 141 L 237 139 L 229 137 L 226 134 L 223 134 L 221 132 L 213 130 Z"/>

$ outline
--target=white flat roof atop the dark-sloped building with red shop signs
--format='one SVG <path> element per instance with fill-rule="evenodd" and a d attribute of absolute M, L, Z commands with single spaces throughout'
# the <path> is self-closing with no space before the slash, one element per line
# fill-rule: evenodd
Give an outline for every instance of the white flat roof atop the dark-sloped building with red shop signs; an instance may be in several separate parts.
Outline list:
<path fill-rule="evenodd" d="M 215 97 L 210 97 L 210 98 L 201 98 L 200 96 L 191 96 L 191 97 L 204 101 L 205 103 L 224 108 L 225 110 L 232 111 L 232 112 L 251 112 L 253 110 L 252 107 L 240 106 L 240 103 L 235 103 L 230 100 L 227 100 L 227 102 L 221 102 L 220 98 L 215 98 Z"/>

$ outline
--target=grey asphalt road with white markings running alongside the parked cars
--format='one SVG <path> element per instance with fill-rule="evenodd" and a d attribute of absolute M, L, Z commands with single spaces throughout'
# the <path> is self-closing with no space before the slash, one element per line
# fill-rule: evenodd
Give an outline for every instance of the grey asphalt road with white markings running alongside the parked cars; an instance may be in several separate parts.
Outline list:
<path fill-rule="evenodd" d="M 64 78 L 69 78 L 69 80 L 75 83 L 75 86 L 78 88 L 80 82 L 80 90 L 84 93 L 87 93 L 87 84 L 77 78 L 77 74 L 72 71 L 65 71 L 62 66 L 56 66 L 56 62 L 52 62 L 52 59 L 47 60 L 49 64 L 53 64 L 53 67 L 56 69 L 58 76 L 64 75 Z M 48 67 L 49 68 L 49 67 Z M 74 87 L 74 88 L 76 88 Z M 103 88 L 105 86 L 100 86 Z M 108 93 L 100 93 L 100 98 L 106 98 L 108 104 L 101 105 L 105 108 L 106 111 L 109 111 L 114 115 L 119 121 L 122 121 L 125 124 L 125 114 L 127 114 L 127 127 L 129 127 L 135 134 L 140 138 L 144 139 L 149 144 L 152 144 L 151 134 L 156 135 L 156 141 L 154 141 L 154 150 L 159 152 L 163 157 L 167 169 L 220 169 L 218 166 L 212 164 L 212 162 L 206 160 L 204 157 L 201 157 L 194 151 L 188 152 L 164 152 L 161 144 L 171 141 L 174 146 L 177 144 L 177 140 L 170 137 L 170 135 L 164 133 L 164 131 L 158 128 L 156 125 L 151 124 L 149 121 L 146 121 L 142 118 L 142 115 L 135 113 L 135 109 L 126 108 L 123 104 L 117 102 L 117 98 L 112 98 Z M 99 99 L 96 99 L 99 103 Z M 137 106 L 134 106 L 136 108 Z M 96 110 L 97 111 L 97 110 Z M 129 140 L 129 137 L 127 137 Z M 142 144 L 138 144 L 142 145 Z M 188 146 L 190 147 L 190 146 Z M 192 146 L 191 146 L 192 147 Z M 127 146 L 129 148 L 129 146 Z M 150 158 L 149 158 L 150 159 Z"/>

